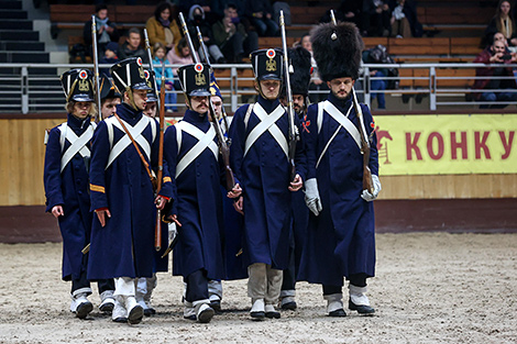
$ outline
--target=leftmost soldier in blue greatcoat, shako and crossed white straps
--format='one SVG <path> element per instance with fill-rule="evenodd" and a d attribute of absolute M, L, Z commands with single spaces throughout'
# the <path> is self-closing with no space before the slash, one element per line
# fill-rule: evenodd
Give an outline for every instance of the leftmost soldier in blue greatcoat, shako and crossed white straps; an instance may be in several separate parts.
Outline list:
<path fill-rule="evenodd" d="M 67 122 L 51 130 L 46 153 L 44 185 L 46 211 L 59 222 L 63 236 L 63 279 L 72 280 L 70 311 L 84 319 L 92 310 L 86 275 L 88 255 L 82 248 L 90 241 L 91 219 L 88 193 L 88 164 L 96 113 L 92 73 L 87 69 L 65 71 L 61 81 L 66 97 Z M 100 310 L 113 309 L 113 280 L 98 282 Z"/>

